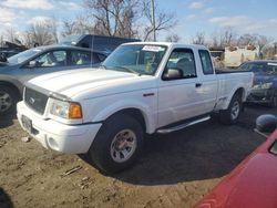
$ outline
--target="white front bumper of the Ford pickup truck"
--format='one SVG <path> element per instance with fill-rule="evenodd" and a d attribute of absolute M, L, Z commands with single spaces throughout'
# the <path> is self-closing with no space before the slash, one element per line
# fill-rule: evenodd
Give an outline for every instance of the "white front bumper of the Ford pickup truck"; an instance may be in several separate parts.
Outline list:
<path fill-rule="evenodd" d="M 66 125 L 53 119 L 43 119 L 28 108 L 23 101 L 17 105 L 17 116 L 21 127 L 45 148 L 62 153 L 86 153 L 102 124 Z M 31 121 L 31 131 L 22 123 L 22 116 Z"/>

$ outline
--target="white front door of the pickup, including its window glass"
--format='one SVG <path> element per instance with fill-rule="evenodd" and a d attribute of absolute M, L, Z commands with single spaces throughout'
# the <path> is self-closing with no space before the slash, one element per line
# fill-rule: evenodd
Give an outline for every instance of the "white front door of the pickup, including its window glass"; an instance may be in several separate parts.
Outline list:
<path fill-rule="evenodd" d="M 194 52 L 175 49 L 165 67 L 181 71 L 181 77 L 162 79 L 158 86 L 158 127 L 199 115 L 201 96 L 197 93 L 197 73 Z"/>

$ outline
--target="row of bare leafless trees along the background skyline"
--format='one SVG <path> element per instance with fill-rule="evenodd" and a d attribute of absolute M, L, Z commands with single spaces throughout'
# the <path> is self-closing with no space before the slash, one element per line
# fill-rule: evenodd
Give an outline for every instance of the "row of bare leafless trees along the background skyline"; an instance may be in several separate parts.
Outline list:
<path fill-rule="evenodd" d="M 32 48 L 34 44 L 53 44 L 59 41 L 59 38 L 72 34 L 100 34 L 151 41 L 153 30 L 167 31 L 168 35 L 163 41 L 182 40 L 181 34 L 172 32 L 177 24 L 176 15 L 160 10 L 157 3 L 154 6 L 155 24 L 153 23 L 150 0 L 83 0 L 82 7 L 82 14 L 73 20 L 59 22 L 54 18 L 49 18 L 45 21 L 31 23 L 20 34 L 14 29 L 8 28 L 3 34 L 0 34 L 0 43 L 6 39 Z M 197 32 L 189 42 L 217 49 L 247 44 L 255 44 L 263 49 L 273 41 L 270 37 L 249 33 L 239 35 L 234 29 L 225 28 L 213 32 L 211 37 L 205 32 Z"/>

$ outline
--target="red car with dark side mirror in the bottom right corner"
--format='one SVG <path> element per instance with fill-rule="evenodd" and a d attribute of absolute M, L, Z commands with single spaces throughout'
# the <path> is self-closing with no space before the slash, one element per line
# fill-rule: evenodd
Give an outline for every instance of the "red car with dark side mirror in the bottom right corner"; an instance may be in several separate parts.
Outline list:
<path fill-rule="evenodd" d="M 259 132 L 271 132 L 273 115 L 257 118 Z M 234 153 L 235 154 L 235 153 Z M 250 156 L 228 174 L 196 208 L 276 208 L 277 129 Z"/>

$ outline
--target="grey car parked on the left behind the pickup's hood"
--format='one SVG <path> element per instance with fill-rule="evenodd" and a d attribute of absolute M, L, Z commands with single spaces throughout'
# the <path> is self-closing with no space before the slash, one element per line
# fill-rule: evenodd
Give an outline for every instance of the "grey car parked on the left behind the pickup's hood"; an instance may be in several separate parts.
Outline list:
<path fill-rule="evenodd" d="M 0 64 L 0 115 L 14 108 L 25 81 L 45 73 L 93 66 L 105 58 L 104 53 L 69 45 L 39 46 L 9 58 Z"/>

